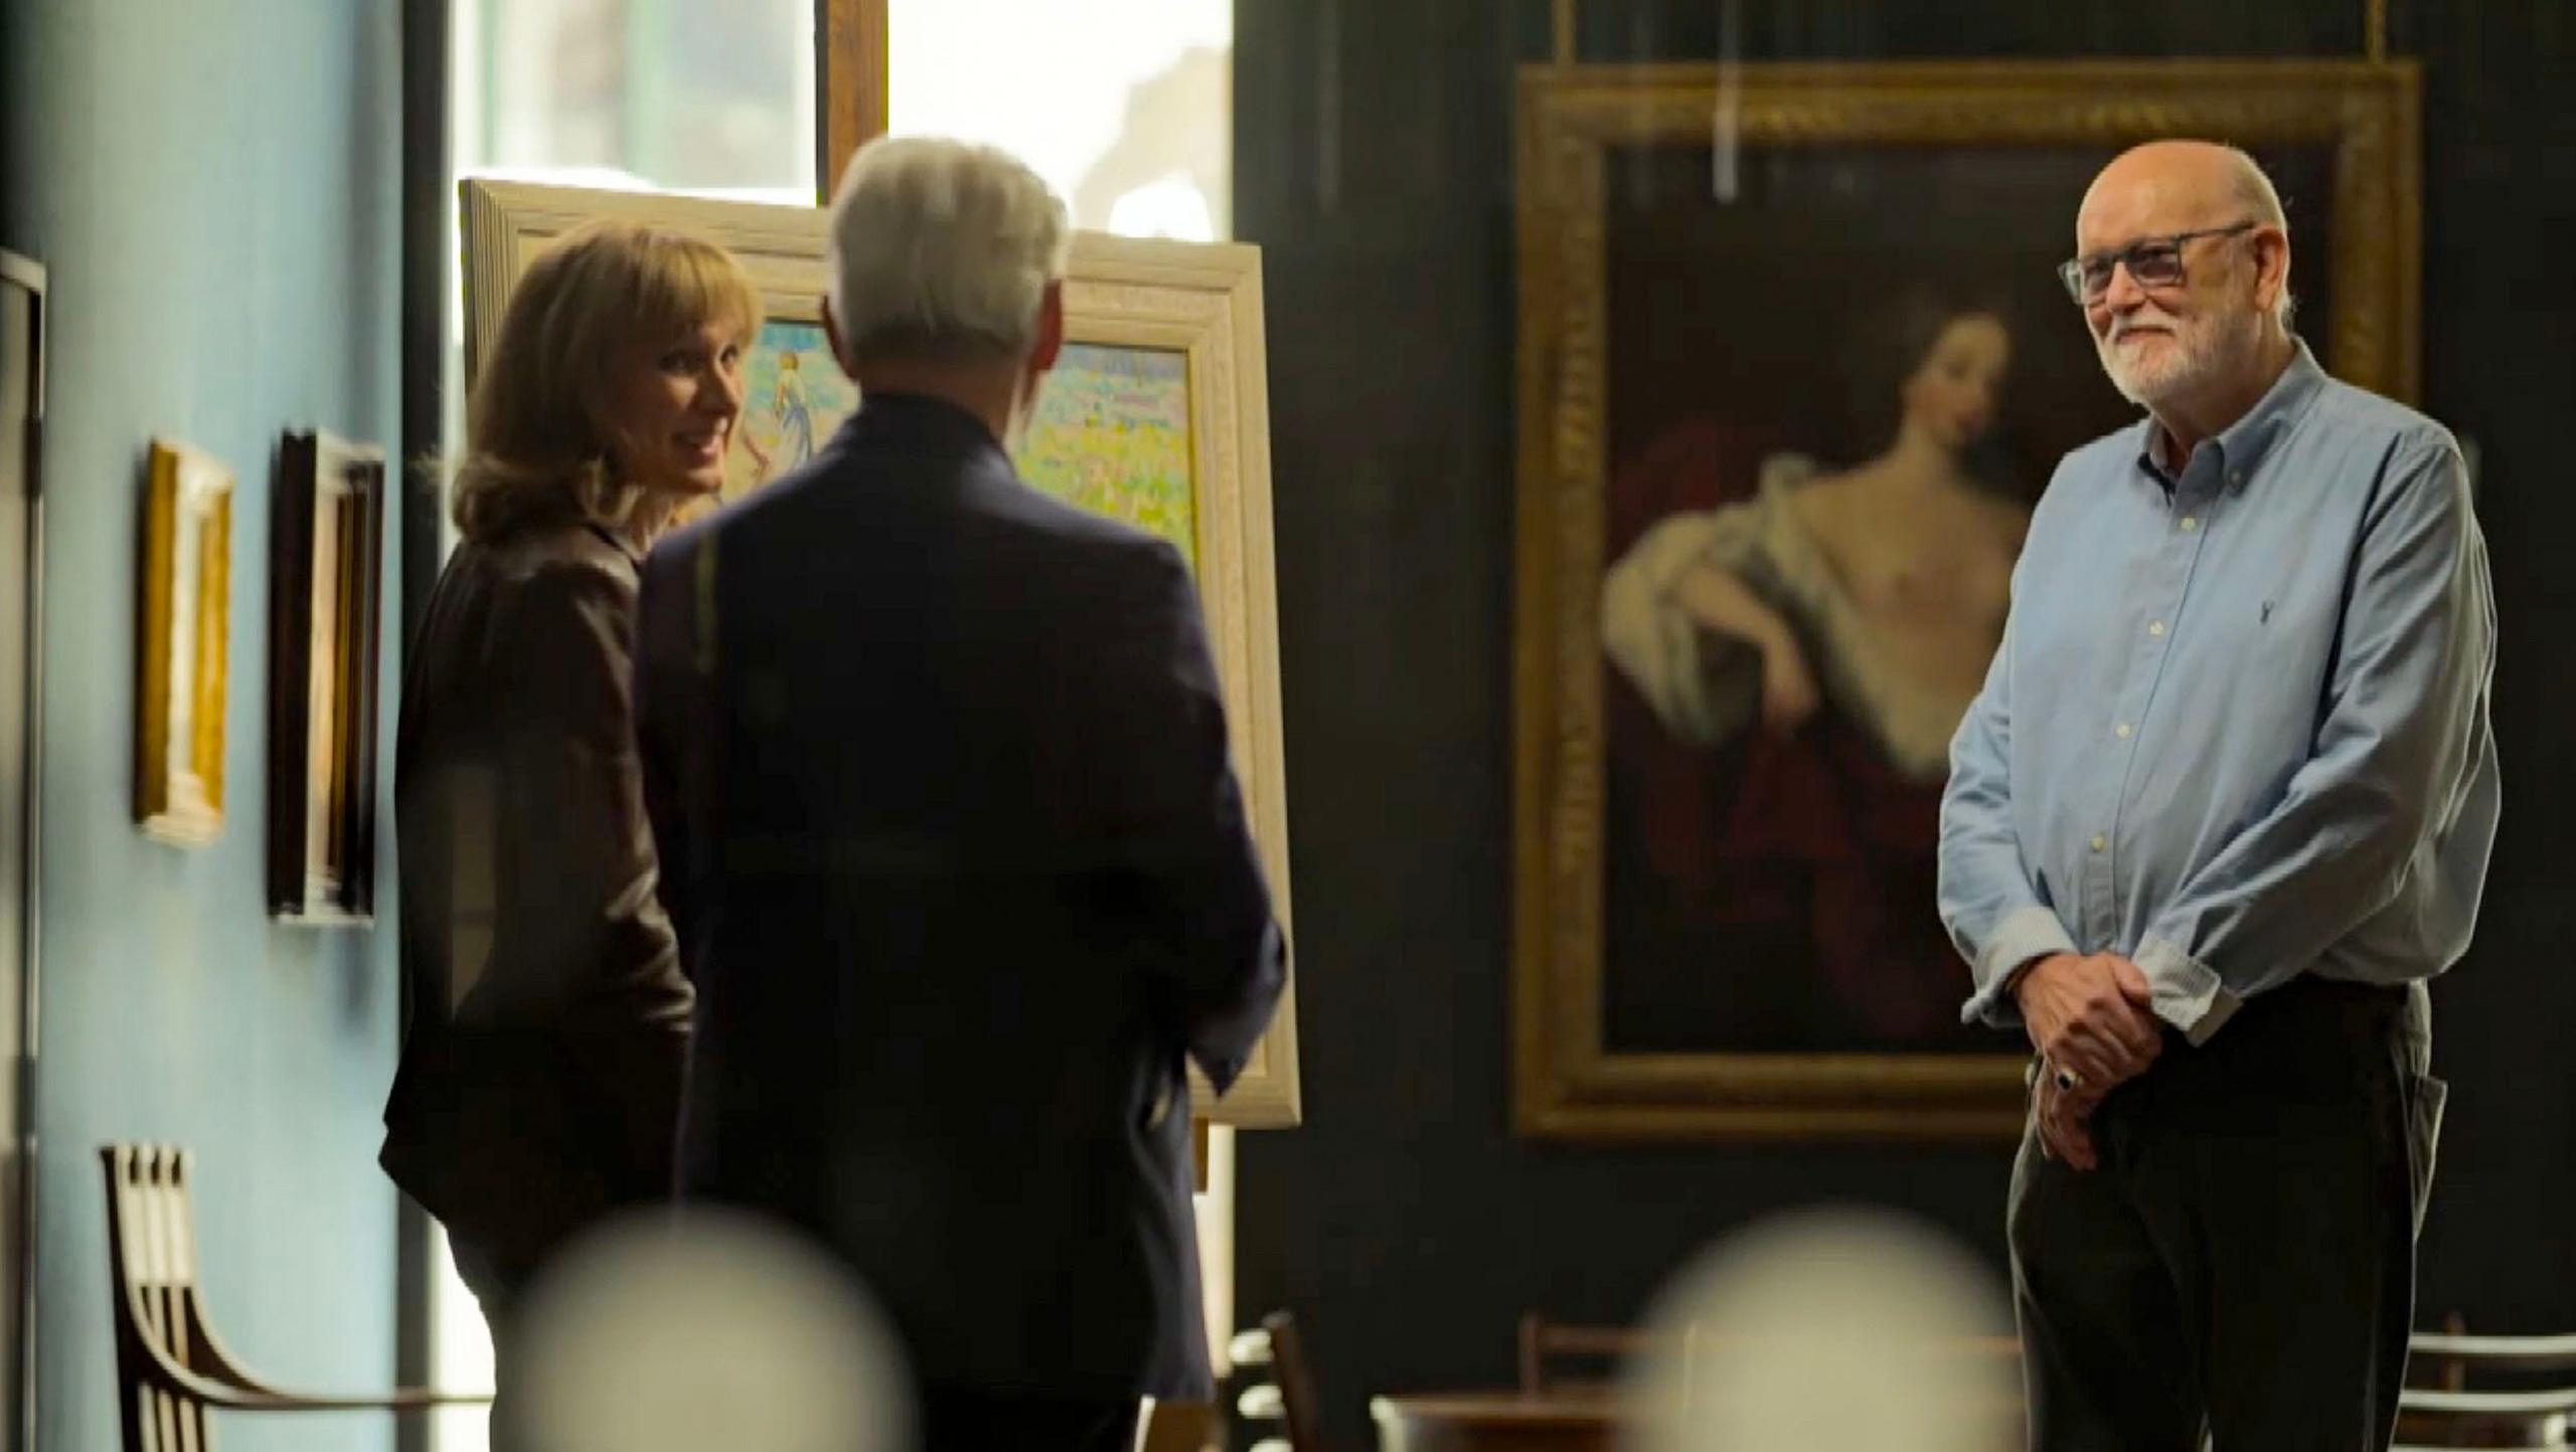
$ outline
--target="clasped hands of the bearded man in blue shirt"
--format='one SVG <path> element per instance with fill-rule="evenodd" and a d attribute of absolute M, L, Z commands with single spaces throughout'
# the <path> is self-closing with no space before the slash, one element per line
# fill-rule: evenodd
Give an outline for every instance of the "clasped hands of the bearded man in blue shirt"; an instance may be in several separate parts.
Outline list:
<path fill-rule="evenodd" d="M 2164 1050 L 2146 973 L 2117 953 L 2050 953 L 2022 971 L 2012 996 L 2043 1061 L 2032 1086 L 2040 1151 L 2094 1169 L 2092 1112 Z M 2071 1089 L 2061 1074 L 2074 1076 Z"/>

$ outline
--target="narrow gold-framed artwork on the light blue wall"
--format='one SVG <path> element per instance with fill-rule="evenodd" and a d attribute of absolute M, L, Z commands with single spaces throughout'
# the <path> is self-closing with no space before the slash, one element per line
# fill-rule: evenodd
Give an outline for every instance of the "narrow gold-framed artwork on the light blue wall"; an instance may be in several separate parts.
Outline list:
<path fill-rule="evenodd" d="M 152 440 L 144 489 L 134 821 L 155 842 L 201 847 L 224 829 L 232 469 Z"/>

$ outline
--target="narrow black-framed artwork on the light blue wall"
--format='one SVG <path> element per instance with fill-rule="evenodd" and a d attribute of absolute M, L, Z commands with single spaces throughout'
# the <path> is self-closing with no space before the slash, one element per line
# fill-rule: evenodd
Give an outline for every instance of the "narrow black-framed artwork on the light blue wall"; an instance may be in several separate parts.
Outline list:
<path fill-rule="evenodd" d="M 289 433 L 268 548 L 268 911 L 368 922 L 384 451 Z"/>

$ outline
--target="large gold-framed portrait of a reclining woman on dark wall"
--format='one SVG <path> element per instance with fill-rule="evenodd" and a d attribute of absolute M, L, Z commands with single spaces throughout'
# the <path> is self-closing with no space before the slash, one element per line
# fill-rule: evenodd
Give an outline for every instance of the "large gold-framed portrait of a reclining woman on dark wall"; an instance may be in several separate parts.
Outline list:
<path fill-rule="evenodd" d="M 2136 142 L 2246 147 L 2300 335 L 2409 399 L 2419 131 L 2406 64 L 1522 72 L 1520 1133 L 2020 1130 L 1935 839 L 2030 505 L 2138 417 L 2076 206 Z"/>

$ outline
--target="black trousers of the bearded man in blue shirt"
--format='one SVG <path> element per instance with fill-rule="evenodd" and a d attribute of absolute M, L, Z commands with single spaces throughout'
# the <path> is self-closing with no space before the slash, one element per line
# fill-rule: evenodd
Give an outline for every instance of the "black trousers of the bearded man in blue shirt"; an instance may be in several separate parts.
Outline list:
<path fill-rule="evenodd" d="M 2035 1452 L 2378 1452 L 2414 1323 L 2442 1081 L 2421 989 L 2298 978 L 2022 1135 L 2012 1282 Z"/>

